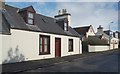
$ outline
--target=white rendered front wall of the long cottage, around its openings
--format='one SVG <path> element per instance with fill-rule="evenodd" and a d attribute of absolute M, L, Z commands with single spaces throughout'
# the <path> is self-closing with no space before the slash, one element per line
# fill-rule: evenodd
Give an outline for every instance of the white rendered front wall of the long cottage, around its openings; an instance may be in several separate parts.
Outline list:
<path fill-rule="evenodd" d="M 50 54 L 48 55 L 39 55 L 40 34 L 50 36 Z M 0 48 L 0 51 L 2 51 L 0 61 L 2 62 L 0 64 L 9 60 L 8 51 L 10 49 L 13 50 L 12 56 L 23 54 L 25 56 L 24 61 L 55 58 L 55 37 L 61 38 L 61 57 L 82 53 L 81 41 L 78 37 L 11 29 L 11 35 L 0 35 L 0 41 L 2 40 L 2 48 Z M 68 52 L 69 38 L 74 41 L 73 52 Z M 16 49 L 19 49 L 17 54 L 15 54 Z"/>

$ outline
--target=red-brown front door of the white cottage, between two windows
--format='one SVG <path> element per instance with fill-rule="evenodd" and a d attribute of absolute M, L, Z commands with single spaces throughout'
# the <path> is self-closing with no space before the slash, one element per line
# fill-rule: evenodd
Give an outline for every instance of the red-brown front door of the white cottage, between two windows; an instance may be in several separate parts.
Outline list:
<path fill-rule="evenodd" d="M 55 38 L 55 57 L 61 57 L 61 39 Z"/>

